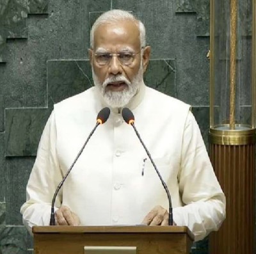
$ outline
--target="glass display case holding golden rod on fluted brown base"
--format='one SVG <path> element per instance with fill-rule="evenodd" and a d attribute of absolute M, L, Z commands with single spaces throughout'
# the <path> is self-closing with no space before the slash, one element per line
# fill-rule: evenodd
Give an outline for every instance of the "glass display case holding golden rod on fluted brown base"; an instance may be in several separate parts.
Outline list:
<path fill-rule="evenodd" d="M 227 216 L 210 254 L 254 253 L 255 15 L 256 0 L 211 0 L 209 148 Z"/>

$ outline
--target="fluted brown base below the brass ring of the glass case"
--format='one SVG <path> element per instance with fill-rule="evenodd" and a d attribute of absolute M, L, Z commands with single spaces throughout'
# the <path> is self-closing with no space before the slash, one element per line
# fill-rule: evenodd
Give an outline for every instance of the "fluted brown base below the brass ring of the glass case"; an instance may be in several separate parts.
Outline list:
<path fill-rule="evenodd" d="M 227 217 L 219 232 L 211 234 L 211 254 L 251 254 L 255 223 L 255 144 L 211 144 L 210 155 L 227 198 Z"/>

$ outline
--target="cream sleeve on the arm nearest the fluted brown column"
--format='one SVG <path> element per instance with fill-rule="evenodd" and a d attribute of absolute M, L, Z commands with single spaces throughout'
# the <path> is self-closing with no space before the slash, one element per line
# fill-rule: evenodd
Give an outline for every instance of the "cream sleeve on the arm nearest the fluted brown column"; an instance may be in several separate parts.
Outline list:
<path fill-rule="evenodd" d="M 178 180 L 184 206 L 173 209 L 173 220 L 179 226 L 188 226 L 195 241 L 199 241 L 220 228 L 225 219 L 225 195 L 190 111 L 184 127 Z"/>

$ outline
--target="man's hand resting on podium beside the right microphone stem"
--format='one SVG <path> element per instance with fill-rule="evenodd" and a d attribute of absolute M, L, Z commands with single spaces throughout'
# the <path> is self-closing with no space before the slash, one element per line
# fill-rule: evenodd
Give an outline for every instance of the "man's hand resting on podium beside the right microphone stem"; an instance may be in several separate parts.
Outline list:
<path fill-rule="evenodd" d="M 150 210 L 150 212 L 148 212 L 147 216 L 143 219 L 142 224 L 150 226 L 168 226 L 169 213 L 166 209 L 161 207 L 161 205 L 157 205 L 152 210 Z"/>

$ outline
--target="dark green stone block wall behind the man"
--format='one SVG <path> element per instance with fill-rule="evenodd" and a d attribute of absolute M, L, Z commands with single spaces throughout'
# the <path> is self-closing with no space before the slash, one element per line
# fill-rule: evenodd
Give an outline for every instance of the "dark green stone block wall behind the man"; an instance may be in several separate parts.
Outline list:
<path fill-rule="evenodd" d="M 54 102 L 92 86 L 90 27 L 114 8 L 144 22 L 146 84 L 191 104 L 207 145 L 209 0 L 0 0 L 1 254 L 32 253 L 19 210 L 42 129 Z"/>

